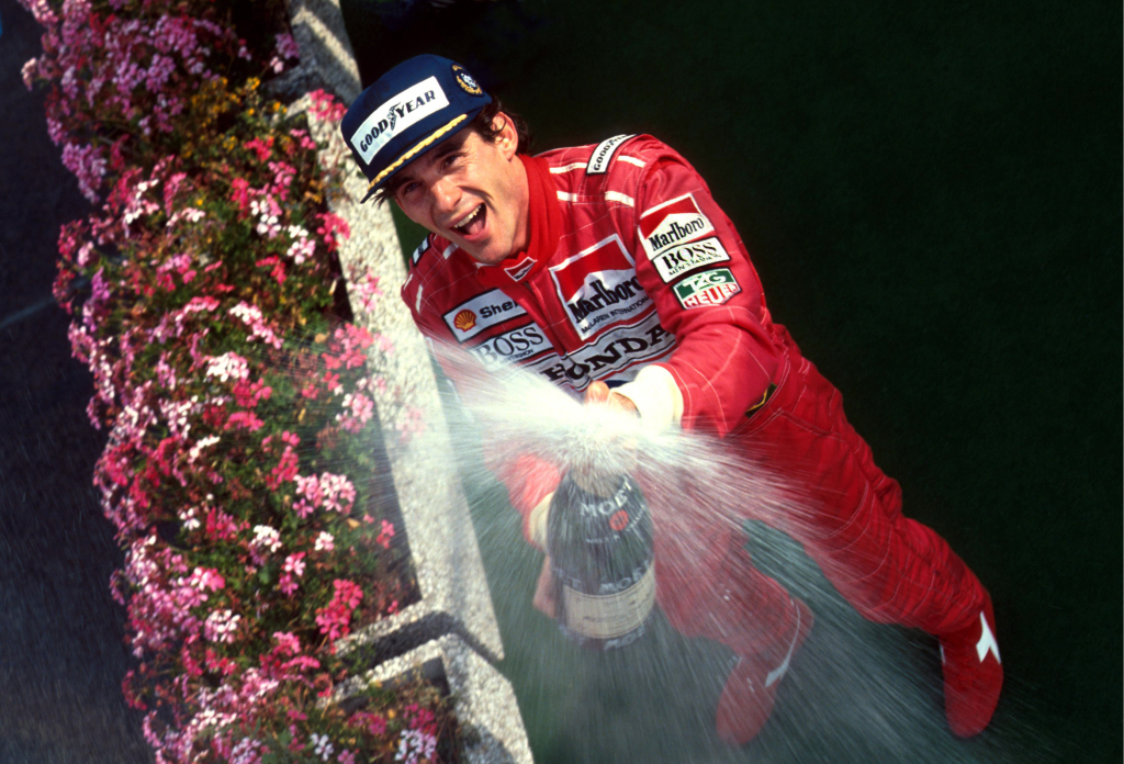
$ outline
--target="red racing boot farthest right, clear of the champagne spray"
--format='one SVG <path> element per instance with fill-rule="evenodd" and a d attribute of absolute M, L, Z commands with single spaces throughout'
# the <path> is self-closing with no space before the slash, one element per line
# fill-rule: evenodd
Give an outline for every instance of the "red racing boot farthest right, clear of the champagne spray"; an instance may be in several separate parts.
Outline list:
<path fill-rule="evenodd" d="M 971 626 L 941 637 L 944 712 L 953 735 L 979 735 L 991 721 L 1003 688 L 991 598 Z"/>

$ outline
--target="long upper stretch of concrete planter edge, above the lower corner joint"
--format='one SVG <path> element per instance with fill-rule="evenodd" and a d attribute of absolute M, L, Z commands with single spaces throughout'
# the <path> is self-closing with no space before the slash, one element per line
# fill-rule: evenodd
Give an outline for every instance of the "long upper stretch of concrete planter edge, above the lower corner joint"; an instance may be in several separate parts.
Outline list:
<path fill-rule="evenodd" d="M 324 82 L 335 83 L 334 89 L 344 99 L 357 96 L 357 69 L 338 4 L 332 0 L 291 0 L 290 9 L 301 48 L 302 76 L 315 73 Z M 308 103 L 305 96 L 291 104 L 290 111 L 307 109 Z M 380 658 L 392 657 L 452 633 L 489 660 L 501 660 L 499 626 L 468 502 L 451 458 L 429 352 L 398 298 L 406 265 L 393 221 L 384 207 L 357 203 L 366 191 L 366 180 L 352 163 L 338 129 L 314 125 L 314 131 L 329 146 L 321 161 L 339 163 L 346 175 L 344 197 L 329 203 L 352 230 L 341 245 L 339 261 L 355 322 L 395 343 L 395 351 L 384 360 L 372 354 L 369 367 L 387 381 L 386 390 L 375 394 L 375 404 L 422 591 L 420 602 L 341 640 L 337 649 L 346 654 L 357 645 L 369 645 Z M 371 275 L 379 279 L 383 294 L 368 310 L 359 286 Z M 404 443 L 398 433 L 419 415 L 424 434 Z"/>

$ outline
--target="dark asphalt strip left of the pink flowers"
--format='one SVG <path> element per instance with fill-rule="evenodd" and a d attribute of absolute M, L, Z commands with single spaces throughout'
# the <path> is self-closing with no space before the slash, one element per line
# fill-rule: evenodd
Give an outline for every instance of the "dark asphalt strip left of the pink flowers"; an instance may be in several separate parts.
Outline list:
<path fill-rule="evenodd" d="M 51 298 L 58 227 L 88 203 L 20 80 L 38 26 L 10 0 L 0 17 L 0 762 L 148 762 L 120 688 L 123 556 L 90 482 L 105 435 Z"/>

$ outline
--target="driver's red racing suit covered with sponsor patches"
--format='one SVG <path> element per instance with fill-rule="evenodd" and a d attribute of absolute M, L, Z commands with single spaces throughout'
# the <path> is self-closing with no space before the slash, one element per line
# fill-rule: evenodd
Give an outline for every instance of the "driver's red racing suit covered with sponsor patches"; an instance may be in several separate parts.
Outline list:
<path fill-rule="evenodd" d="M 527 249 L 481 265 L 430 234 L 402 286 L 423 334 L 489 371 L 518 363 L 574 394 L 624 383 L 645 420 L 716 435 L 798 476 L 815 509 L 785 530 L 863 616 L 936 635 L 970 625 L 979 581 L 935 531 L 903 517 L 897 482 L 847 424 L 839 391 L 772 321 L 737 231 L 686 160 L 650 136 L 520 158 Z M 526 531 L 558 471 L 527 457 L 497 472 Z M 792 633 L 787 592 L 746 564 L 737 527 L 661 522 L 655 506 L 653 521 L 656 597 L 676 628 L 740 655 Z"/>

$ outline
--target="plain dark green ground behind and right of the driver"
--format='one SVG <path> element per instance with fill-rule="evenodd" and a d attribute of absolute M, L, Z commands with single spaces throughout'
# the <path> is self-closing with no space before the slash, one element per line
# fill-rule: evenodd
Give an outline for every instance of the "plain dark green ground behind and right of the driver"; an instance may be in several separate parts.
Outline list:
<path fill-rule="evenodd" d="M 364 81 L 441 53 L 540 149 L 626 131 L 677 147 L 906 511 L 991 590 L 1000 711 L 1051 761 L 1120 761 L 1120 7 L 466 7 L 389 33 L 345 0 Z M 531 727 L 540 760 L 565 761 Z"/>

